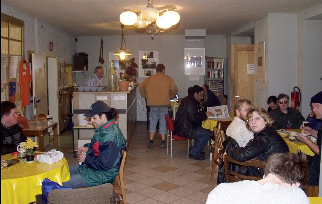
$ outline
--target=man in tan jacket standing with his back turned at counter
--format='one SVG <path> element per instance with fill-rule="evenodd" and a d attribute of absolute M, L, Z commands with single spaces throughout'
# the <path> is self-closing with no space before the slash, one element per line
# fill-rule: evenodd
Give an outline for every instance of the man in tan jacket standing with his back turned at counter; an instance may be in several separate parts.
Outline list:
<path fill-rule="evenodd" d="M 178 89 L 173 79 L 165 75 L 165 66 L 163 64 L 158 64 L 156 74 L 149 76 L 140 84 L 140 93 L 146 99 L 146 105 L 150 107 L 150 142 L 148 145 L 150 149 L 153 148 L 153 138 L 158 120 L 161 148 L 167 148 L 165 114 L 168 114 L 170 98 L 175 97 L 177 92 Z"/>

